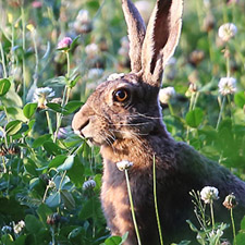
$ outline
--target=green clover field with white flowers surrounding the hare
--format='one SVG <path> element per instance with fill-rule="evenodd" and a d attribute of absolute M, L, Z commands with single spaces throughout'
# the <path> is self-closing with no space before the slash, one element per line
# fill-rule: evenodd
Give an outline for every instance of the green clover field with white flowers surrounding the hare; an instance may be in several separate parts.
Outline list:
<path fill-rule="evenodd" d="M 155 1 L 135 2 L 147 22 Z M 242 0 L 186 1 L 159 95 L 173 137 L 243 180 L 244 11 Z M 119 0 L 0 1 L 0 244 L 123 244 L 126 234 L 110 236 L 100 208 L 99 149 L 76 136 L 71 121 L 99 83 L 128 71 Z M 245 219 L 234 222 L 232 194 L 223 203 L 231 222 L 215 222 L 218 192 L 191 192 L 199 223 L 187 221 L 192 242 L 224 244 L 230 229 L 231 243 L 244 244 Z"/>

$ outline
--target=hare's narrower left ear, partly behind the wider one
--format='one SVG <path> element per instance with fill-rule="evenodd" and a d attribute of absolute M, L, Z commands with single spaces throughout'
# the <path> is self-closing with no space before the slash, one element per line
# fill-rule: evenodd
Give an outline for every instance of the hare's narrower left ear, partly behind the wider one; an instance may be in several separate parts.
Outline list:
<path fill-rule="evenodd" d="M 131 0 L 122 0 L 130 39 L 130 59 L 132 72 L 142 70 L 142 46 L 146 34 L 145 23 Z"/>

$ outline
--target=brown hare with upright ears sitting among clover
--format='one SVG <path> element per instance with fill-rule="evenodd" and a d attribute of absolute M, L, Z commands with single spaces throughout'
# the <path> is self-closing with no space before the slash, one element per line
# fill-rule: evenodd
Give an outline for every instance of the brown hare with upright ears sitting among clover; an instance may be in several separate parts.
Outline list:
<path fill-rule="evenodd" d="M 216 213 L 228 194 L 245 215 L 245 183 L 185 143 L 175 142 L 162 122 L 158 93 L 163 68 L 174 52 L 181 27 L 183 0 L 157 0 L 147 28 L 131 0 L 122 0 L 128 28 L 132 72 L 100 84 L 74 115 L 75 133 L 100 146 L 103 158 L 101 203 L 113 235 L 128 232 L 126 245 L 137 244 L 124 172 L 117 162 L 133 162 L 130 184 L 143 245 L 159 244 L 152 194 L 156 162 L 157 197 L 164 244 L 189 237 L 186 219 L 193 216 L 189 192 L 211 185 L 219 189 Z M 218 218 L 217 218 L 218 219 Z"/>

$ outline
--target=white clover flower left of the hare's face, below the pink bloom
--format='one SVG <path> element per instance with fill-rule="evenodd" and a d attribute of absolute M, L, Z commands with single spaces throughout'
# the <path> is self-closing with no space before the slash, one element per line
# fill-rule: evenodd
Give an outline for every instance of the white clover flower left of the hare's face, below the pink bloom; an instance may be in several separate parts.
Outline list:
<path fill-rule="evenodd" d="M 38 107 L 44 109 L 46 108 L 47 99 L 51 98 L 56 95 L 56 93 L 50 87 L 40 87 L 36 88 L 34 91 L 34 102 L 38 102 Z"/>

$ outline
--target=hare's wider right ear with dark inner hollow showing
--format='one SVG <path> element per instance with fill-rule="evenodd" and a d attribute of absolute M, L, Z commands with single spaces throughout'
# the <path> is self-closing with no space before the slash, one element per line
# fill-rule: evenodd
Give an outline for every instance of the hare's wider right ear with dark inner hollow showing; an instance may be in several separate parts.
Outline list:
<path fill-rule="evenodd" d="M 160 87 L 161 74 L 179 42 L 183 0 L 157 0 L 142 50 L 145 83 Z"/>

